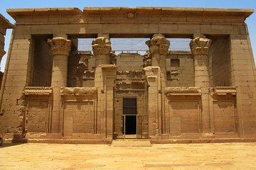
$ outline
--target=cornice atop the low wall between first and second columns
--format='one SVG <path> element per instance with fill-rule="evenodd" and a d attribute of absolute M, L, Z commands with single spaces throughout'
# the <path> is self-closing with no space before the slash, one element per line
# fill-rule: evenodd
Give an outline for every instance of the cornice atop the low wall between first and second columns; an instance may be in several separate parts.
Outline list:
<path fill-rule="evenodd" d="M 60 95 L 89 96 L 97 94 L 95 87 L 60 87 Z"/>

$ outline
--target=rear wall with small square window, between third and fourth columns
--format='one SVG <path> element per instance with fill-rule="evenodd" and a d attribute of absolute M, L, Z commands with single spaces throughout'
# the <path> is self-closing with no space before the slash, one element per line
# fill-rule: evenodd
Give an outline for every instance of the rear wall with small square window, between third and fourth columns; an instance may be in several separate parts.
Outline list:
<path fill-rule="evenodd" d="M 169 52 L 166 57 L 167 86 L 195 86 L 191 52 Z"/>

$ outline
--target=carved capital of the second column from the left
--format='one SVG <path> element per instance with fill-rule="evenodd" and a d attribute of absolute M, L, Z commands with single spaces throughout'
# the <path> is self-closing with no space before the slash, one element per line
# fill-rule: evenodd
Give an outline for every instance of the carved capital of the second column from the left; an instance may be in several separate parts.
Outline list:
<path fill-rule="evenodd" d="M 108 37 L 95 38 L 92 41 L 92 50 L 94 55 L 110 55 L 111 42 Z"/>

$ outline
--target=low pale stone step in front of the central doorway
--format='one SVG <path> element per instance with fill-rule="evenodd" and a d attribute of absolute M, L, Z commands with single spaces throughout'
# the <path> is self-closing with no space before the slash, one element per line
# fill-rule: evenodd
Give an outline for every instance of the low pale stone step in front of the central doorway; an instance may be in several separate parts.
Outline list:
<path fill-rule="evenodd" d="M 151 147 L 149 140 L 113 140 L 113 147 Z"/>

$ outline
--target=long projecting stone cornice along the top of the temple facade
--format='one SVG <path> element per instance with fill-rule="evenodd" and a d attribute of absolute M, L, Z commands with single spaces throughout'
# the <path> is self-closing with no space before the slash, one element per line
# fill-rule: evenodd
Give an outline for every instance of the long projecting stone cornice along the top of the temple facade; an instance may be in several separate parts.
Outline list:
<path fill-rule="evenodd" d="M 209 16 L 213 17 L 221 17 L 226 18 L 223 19 L 222 23 L 232 23 L 233 18 L 238 18 L 236 22 L 243 22 L 247 17 L 249 17 L 254 10 L 252 8 L 172 8 L 172 7 L 85 7 L 83 11 L 80 11 L 79 8 L 13 8 L 7 9 L 7 13 L 12 16 L 15 20 L 17 18 L 22 18 L 23 16 L 32 16 L 31 21 L 26 22 L 35 22 L 32 18 L 36 18 L 37 16 L 86 16 L 91 17 L 91 15 L 105 15 L 105 14 L 115 14 L 116 16 L 124 16 L 130 21 L 134 21 L 133 19 L 139 18 L 139 14 L 143 14 L 146 16 L 158 17 L 161 18 L 161 15 L 168 16 L 184 16 L 187 17 L 189 15 L 196 16 L 196 18 L 209 18 Z M 129 13 L 132 13 L 132 20 L 129 17 Z M 127 17 L 128 15 L 128 17 Z M 95 18 L 93 16 L 92 18 Z M 231 18 L 231 19 L 230 19 Z M 73 21 L 72 22 L 79 22 Z M 196 19 L 195 22 L 198 20 Z M 207 19 L 208 21 L 208 19 Z M 175 21 L 176 22 L 176 21 Z M 213 21 L 215 22 L 215 21 Z"/>

